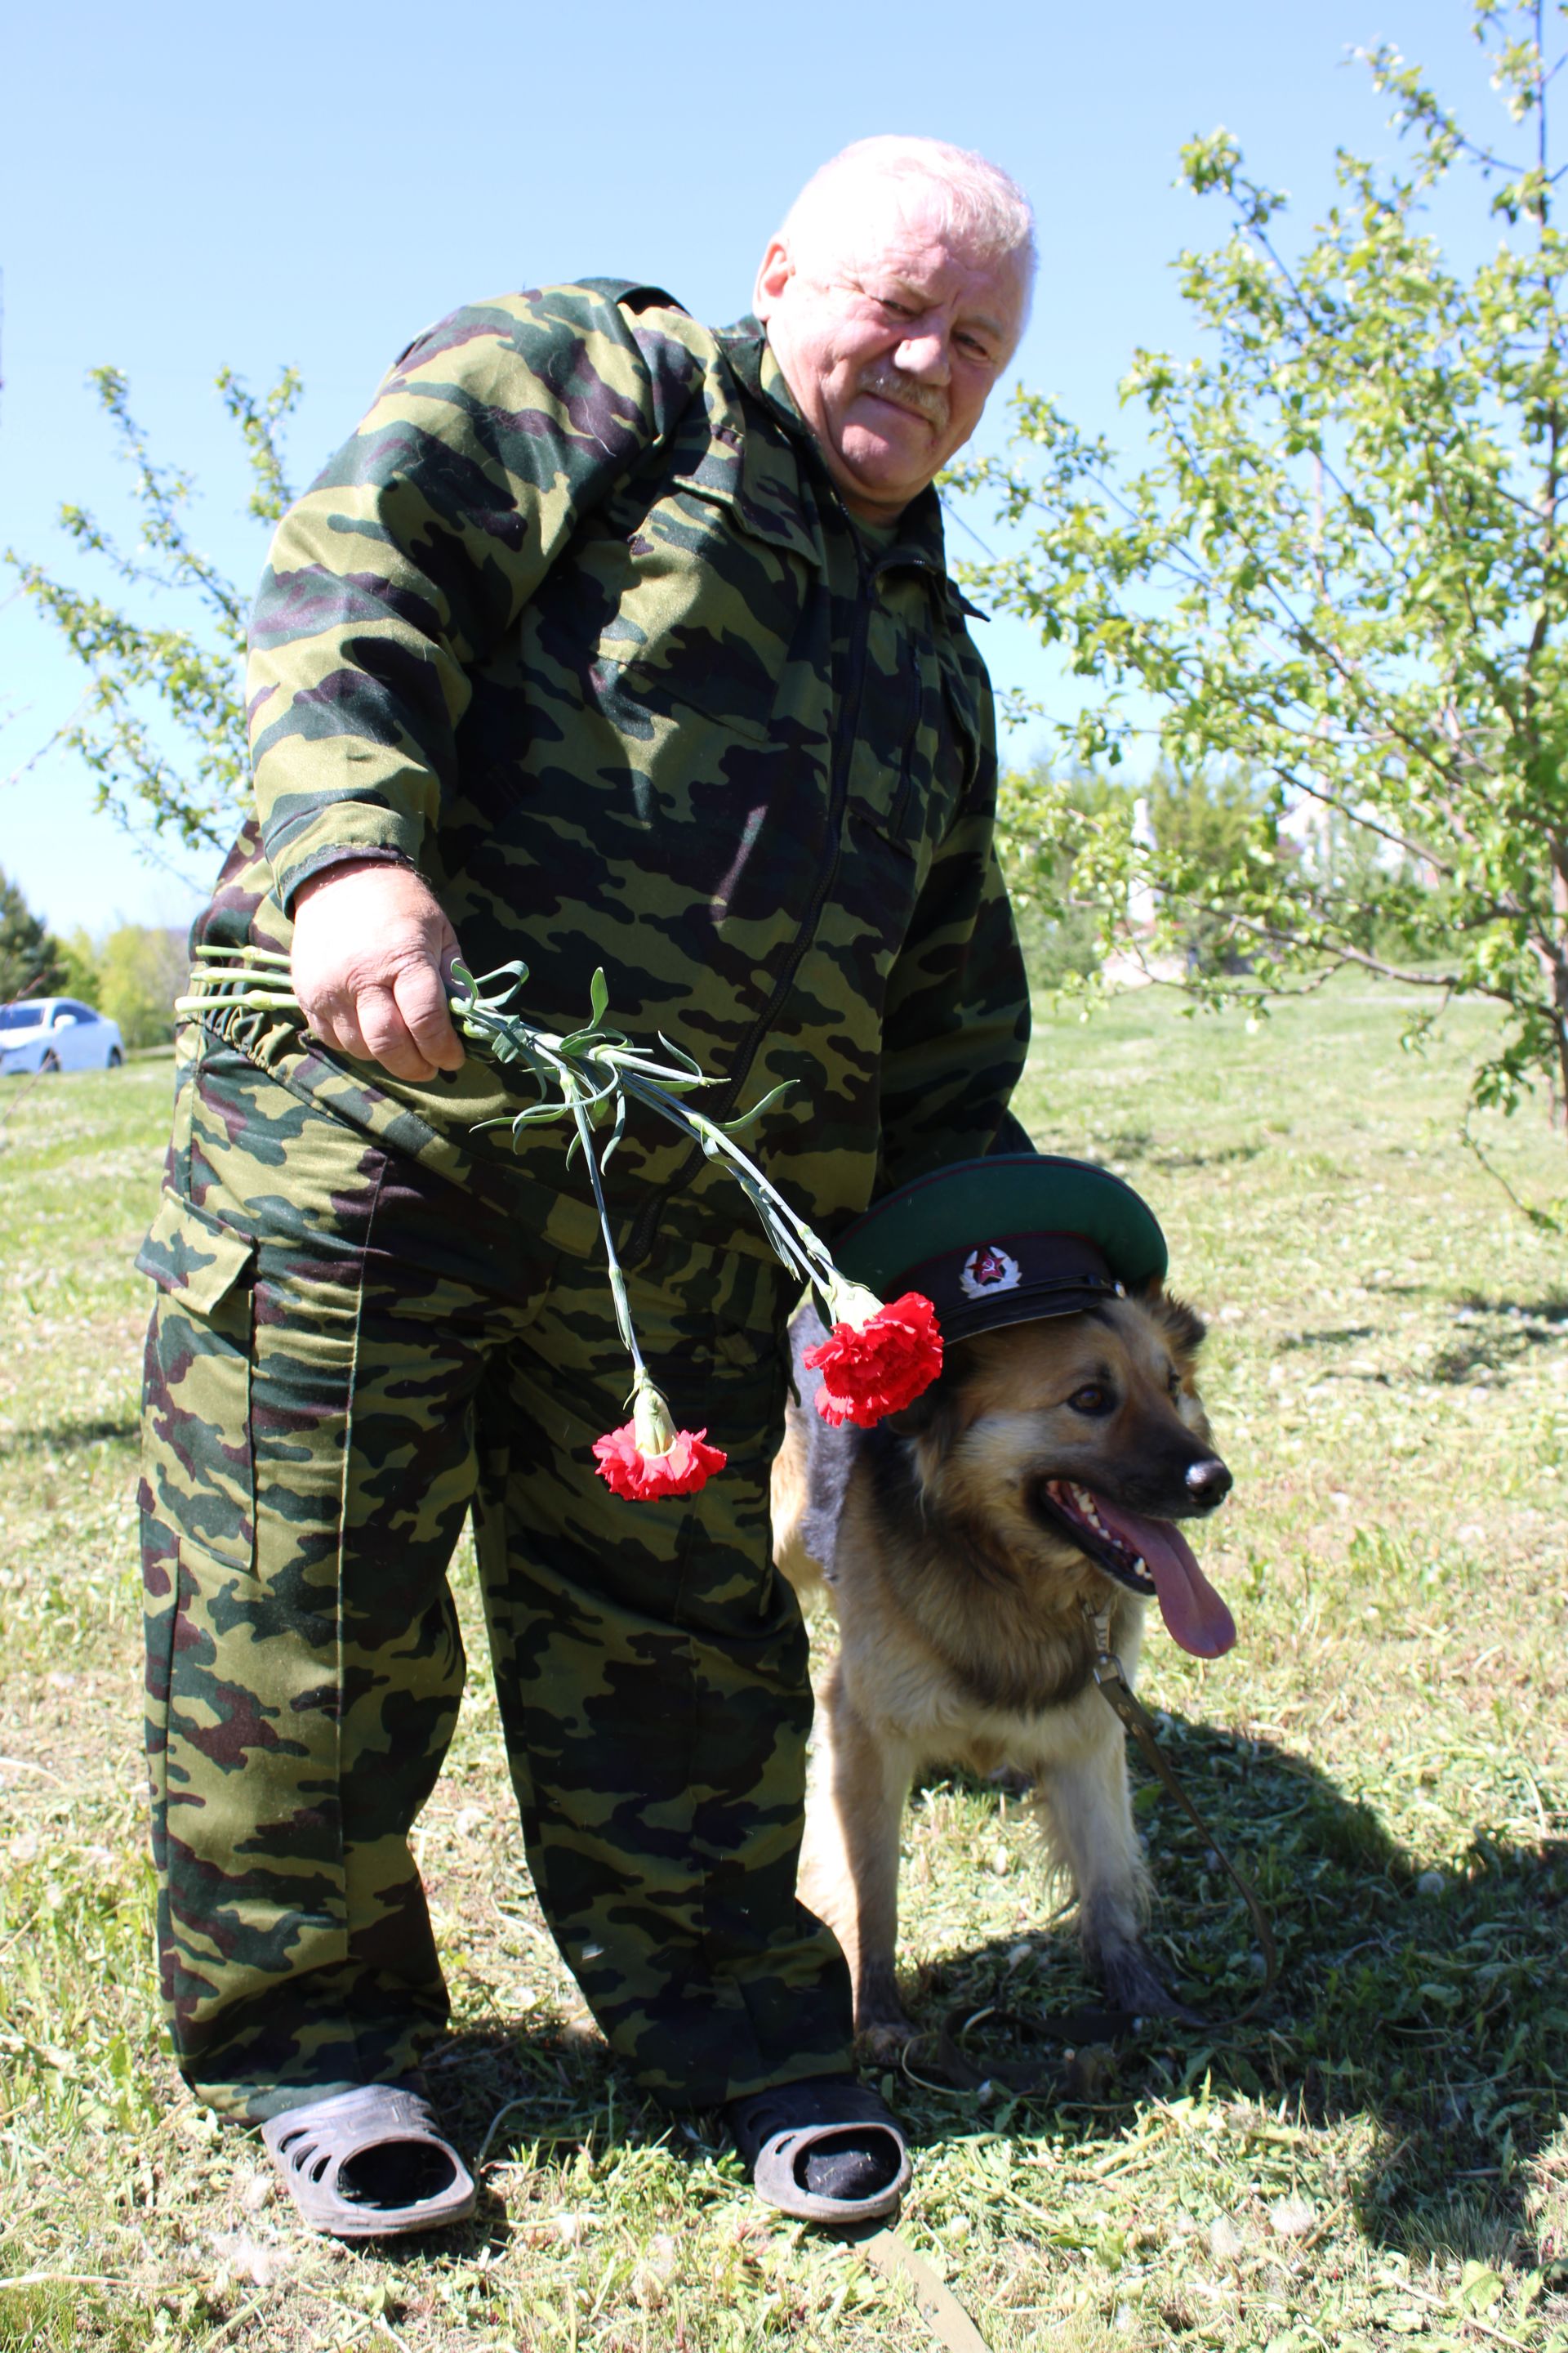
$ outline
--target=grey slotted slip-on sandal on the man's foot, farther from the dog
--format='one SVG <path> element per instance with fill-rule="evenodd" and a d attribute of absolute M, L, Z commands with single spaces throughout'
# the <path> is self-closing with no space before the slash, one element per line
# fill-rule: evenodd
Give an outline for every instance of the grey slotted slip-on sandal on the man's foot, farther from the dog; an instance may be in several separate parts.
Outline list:
<path fill-rule="evenodd" d="M 329 2238 L 440 2231 L 475 2209 L 473 2174 L 430 2108 L 390 2082 L 284 2108 L 261 2139 L 301 2221 Z"/>

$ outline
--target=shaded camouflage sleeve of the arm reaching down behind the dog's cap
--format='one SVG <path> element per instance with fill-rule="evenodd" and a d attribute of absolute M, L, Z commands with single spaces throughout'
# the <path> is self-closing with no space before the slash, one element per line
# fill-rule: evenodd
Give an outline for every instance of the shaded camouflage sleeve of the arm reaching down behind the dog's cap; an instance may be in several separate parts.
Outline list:
<path fill-rule="evenodd" d="M 978 762 L 891 974 L 879 1193 L 950 1160 L 1034 1148 L 1009 1111 L 1030 1052 L 1030 984 L 997 864 L 997 722 L 980 656 L 966 654 Z"/>

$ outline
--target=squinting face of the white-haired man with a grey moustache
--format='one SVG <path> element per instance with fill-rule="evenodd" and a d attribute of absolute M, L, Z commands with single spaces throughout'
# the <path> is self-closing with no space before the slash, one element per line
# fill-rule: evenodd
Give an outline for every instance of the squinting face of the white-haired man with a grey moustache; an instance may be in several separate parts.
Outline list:
<path fill-rule="evenodd" d="M 773 238 L 757 315 L 853 515 L 891 522 L 980 421 L 1023 327 L 1018 256 L 940 228 L 919 186 L 851 207 L 799 256 Z"/>

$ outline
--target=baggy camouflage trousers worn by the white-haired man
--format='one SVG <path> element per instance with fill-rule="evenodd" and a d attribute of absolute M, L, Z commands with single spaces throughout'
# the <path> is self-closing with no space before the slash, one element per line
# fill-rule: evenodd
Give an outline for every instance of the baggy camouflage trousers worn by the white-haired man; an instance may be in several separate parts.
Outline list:
<path fill-rule="evenodd" d="M 795 1901 L 806 1642 L 769 1560 L 773 1268 L 670 1245 L 651 1369 L 729 1468 L 618 1501 L 602 1261 L 303 1104 L 186 1064 L 148 1334 L 143 1567 L 162 1991 L 202 2099 L 268 2115 L 407 2073 L 447 2017 L 409 1828 L 463 1689 L 475 1513 L 534 1885 L 637 2082 L 677 2106 L 851 2064 Z"/>

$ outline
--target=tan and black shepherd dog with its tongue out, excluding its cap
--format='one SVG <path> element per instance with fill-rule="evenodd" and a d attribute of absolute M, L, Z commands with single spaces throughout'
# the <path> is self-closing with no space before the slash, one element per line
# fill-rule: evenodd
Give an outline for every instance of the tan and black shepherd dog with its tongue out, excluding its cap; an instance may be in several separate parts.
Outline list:
<path fill-rule="evenodd" d="M 1093 1614 L 1128 1680 L 1147 1598 L 1182 1649 L 1234 1642 L 1173 1527 L 1232 1482 L 1194 1386 L 1199 1315 L 1157 1289 L 978 1332 L 875 1431 L 811 1409 L 818 1377 L 799 1360 L 820 1337 L 802 1311 L 773 1558 L 802 1600 L 825 1588 L 839 1621 L 799 1892 L 844 1946 L 856 2026 L 882 2045 L 912 2033 L 893 1981 L 898 1826 L 926 1765 L 1027 1774 L 1110 2000 L 1178 2014 L 1140 1939 L 1147 1873 L 1124 1732 L 1093 1682 Z"/>

